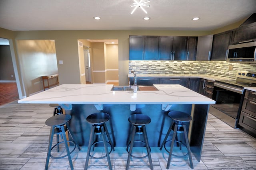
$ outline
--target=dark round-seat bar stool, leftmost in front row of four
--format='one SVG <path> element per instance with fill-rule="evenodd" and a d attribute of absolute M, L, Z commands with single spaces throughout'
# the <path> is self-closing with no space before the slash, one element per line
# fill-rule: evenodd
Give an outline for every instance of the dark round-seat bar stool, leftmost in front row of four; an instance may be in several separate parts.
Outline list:
<path fill-rule="evenodd" d="M 49 164 L 49 160 L 50 160 L 50 157 L 51 158 L 54 158 L 54 159 L 60 159 L 60 158 L 64 158 L 66 156 L 68 156 L 68 161 L 69 161 L 69 164 L 70 164 L 70 168 L 71 170 L 73 170 L 73 164 L 72 164 L 72 159 L 71 159 L 71 156 L 70 154 L 76 149 L 76 147 L 78 147 L 79 150 L 80 147 L 78 146 L 78 143 L 76 143 L 75 139 L 74 139 L 74 135 L 73 133 L 70 131 L 70 127 L 68 125 L 68 121 L 70 121 L 71 119 L 71 115 L 64 115 L 64 114 L 60 114 L 60 115 L 55 115 L 55 116 L 52 116 L 50 118 L 48 118 L 46 121 L 45 121 L 45 124 L 50 126 L 51 127 L 51 132 L 50 132 L 50 140 L 49 140 L 49 146 L 48 146 L 48 152 L 47 152 L 47 157 L 46 157 L 46 163 L 45 163 L 45 170 L 48 169 L 48 164 Z M 65 126 L 66 125 L 66 126 Z M 72 137 L 73 141 L 70 141 L 70 140 L 67 140 L 66 139 L 66 131 L 68 131 L 70 133 L 70 136 Z M 63 141 L 62 142 L 59 142 L 59 143 L 56 143 L 56 145 L 54 145 L 52 147 L 52 141 L 53 141 L 53 136 L 54 134 L 56 135 L 61 135 Z M 64 156 L 53 156 L 51 154 L 51 151 L 54 147 L 60 145 L 61 143 L 64 143 L 65 144 L 65 149 L 66 149 L 66 155 Z M 72 143 L 74 145 L 74 149 L 72 151 L 69 150 L 69 147 L 68 147 L 68 143 Z"/>

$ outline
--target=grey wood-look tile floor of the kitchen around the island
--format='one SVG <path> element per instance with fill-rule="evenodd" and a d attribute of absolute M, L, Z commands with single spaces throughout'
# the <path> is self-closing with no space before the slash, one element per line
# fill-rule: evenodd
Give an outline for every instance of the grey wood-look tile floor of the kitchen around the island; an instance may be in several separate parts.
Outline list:
<path fill-rule="evenodd" d="M 50 127 L 46 119 L 52 116 L 48 104 L 17 104 L 0 106 L 0 170 L 43 170 L 46 162 Z M 149 139 L 150 140 L 150 139 Z M 62 151 L 59 154 L 65 154 Z M 83 170 L 87 147 L 72 153 L 75 170 Z M 143 148 L 136 148 L 142 151 Z M 97 152 L 97 153 L 103 153 Z M 159 147 L 151 148 L 154 170 L 165 170 L 168 154 Z M 114 170 L 124 170 L 128 154 L 116 147 L 110 158 Z M 194 170 L 256 169 L 256 139 L 240 129 L 233 129 L 209 114 L 202 157 L 198 162 L 192 155 Z M 148 159 L 132 158 L 130 170 L 146 170 Z M 50 159 L 49 170 L 69 170 L 67 158 Z M 107 160 L 90 159 L 89 170 L 107 170 Z M 170 169 L 189 170 L 187 157 L 172 156 Z"/>

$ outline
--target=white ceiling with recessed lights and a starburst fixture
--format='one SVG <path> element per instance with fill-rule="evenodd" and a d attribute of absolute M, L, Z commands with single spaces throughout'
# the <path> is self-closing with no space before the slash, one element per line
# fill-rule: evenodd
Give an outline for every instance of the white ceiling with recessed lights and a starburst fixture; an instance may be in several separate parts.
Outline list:
<path fill-rule="evenodd" d="M 140 1 L 140 0 L 136 0 Z M 147 0 L 141 0 L 146 2 Z M 202 30 L 248 18 L 256 0 L 0 0 L 0 27 L 25 30 Z M 93 17 L 99 16 L 101 20 Z M 150 20 L 143 20 L 144 17 Z M 200 20 L 192 21 L 192 18 Z"/>

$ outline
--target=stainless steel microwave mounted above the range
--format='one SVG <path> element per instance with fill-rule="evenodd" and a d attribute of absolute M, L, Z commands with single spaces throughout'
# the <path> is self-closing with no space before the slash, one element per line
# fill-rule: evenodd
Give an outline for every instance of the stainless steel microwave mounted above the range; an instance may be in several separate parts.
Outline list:
<path fill-rule="evenodd" d="M 256 42 L 229 45 L 227 62 L 256 63 Z"/>

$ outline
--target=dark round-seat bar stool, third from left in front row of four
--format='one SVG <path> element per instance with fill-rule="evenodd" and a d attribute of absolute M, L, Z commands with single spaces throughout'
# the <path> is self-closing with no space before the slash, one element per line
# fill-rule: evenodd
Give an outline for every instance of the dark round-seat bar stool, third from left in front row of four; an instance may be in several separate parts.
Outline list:
<path fill-rule="evenodd" d="M 148 144 L 148 135 L 147 135 L 146 126 L 145 126 L 151 122 L 150 117 L 148 117 L 147 115 L 136 113 L 136 114 L 130 115 L 130 117 L 128 118 L 128 121 L 133 125 L 133 127 L 132 127 L 131 141 L 128 143 L 128 146 L 126 148 L 128 151 L 128 148 L 130 145 L 130 150 L 128 151 L 128 159 L 127 159 L 127 163 L 126 163 L 126 170 L 129 169 L 131 157 L 133 157 L 133 158 L 148 157 L 150 169 L 153 170 L 153 164 L 152 164 L 152 159 L 151 159 L 151 155 L 150 155 L 150 147 Z M 138 141 L 134 141 L 134 137 L 136 134 L 138 134 L 138 135 L 143 134 L 144 143 L 146 145 L 146 149 L 147 149 L 147 153 L 148 153 L 146 156 L 137 157 L 137 156 L 132 155 L 132 149 L 133 149 L 134 142 L 138 142 Z M 143 141 L 139 141 L 139 142 L 143 142 Z"/>

